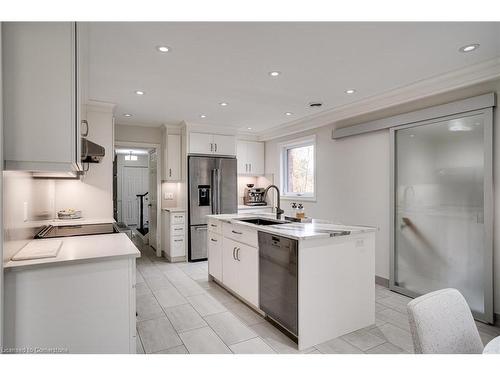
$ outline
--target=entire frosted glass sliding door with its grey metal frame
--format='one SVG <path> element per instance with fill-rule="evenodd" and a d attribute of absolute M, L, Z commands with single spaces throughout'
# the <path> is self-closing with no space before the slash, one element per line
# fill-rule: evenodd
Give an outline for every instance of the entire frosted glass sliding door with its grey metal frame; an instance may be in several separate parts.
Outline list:
<path fill-rule="evenodd" d="M 391 130 L 391 288 L 456 288 L 492 322 L 491 109 Z"/>

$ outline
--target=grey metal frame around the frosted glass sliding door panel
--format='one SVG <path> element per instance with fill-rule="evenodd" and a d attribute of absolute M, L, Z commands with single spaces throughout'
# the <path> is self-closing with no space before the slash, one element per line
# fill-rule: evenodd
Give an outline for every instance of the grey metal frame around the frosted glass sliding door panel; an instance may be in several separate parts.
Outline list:
<path fill-rule="evenodd" d="M 389 288 L 400 294 L 415 298 L 419 294 L 407 290 L 396 285 L 397 269 L 396 269 L 396 132 L 401 129 L 418 127 L 422 125 L 430 125 L 433 123 L 452 120 L 455 118 L 463 118 L 468 116 L 483 116 L 483 131 L 484 131 L 484 313 L 473 312 L 477 320 L 493 323 L 494 321 L 494 306 L 493 306 L 493 107 L 486 107 L 478 110 L 449 113 L 446 116 L 439 116 L 433 119 L 422 119 L 418 116 L 408 114 L 404 123 L 390 128 L 390 278 Z"/>

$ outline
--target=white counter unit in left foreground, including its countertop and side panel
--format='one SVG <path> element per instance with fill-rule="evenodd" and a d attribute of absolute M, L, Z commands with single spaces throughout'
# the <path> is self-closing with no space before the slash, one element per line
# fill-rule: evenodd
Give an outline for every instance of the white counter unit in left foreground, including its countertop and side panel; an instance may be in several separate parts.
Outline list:
<path fill-rule="evenodd" d="M 4 351 L 135 353 L 139 250 L 124 233 L 30 242 L 54 243 L 54 257 L 4 263 Z"/>

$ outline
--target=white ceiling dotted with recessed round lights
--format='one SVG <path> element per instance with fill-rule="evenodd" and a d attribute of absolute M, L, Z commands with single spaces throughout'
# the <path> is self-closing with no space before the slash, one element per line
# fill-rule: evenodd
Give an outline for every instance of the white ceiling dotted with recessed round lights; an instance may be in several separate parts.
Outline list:
<path fill-rule="evenodd" d="M 120 124 L 260 132 L 500 56 L 500 23 L 89 25 L 89 97 L 116 103 Z"/>

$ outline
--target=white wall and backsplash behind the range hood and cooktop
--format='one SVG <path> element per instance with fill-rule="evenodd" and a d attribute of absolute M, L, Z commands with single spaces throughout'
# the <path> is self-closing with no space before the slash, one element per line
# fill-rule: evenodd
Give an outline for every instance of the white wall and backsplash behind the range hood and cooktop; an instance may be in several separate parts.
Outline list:
<path fill-rule="evenodd" d="M 88 138 L 103 146 L 106 155 L 82 180 L 56 180 L 56 210 L 75 208 L 88 218 L 113 217 L 113 106 L 87 105 Z"/>

